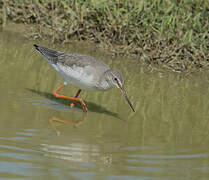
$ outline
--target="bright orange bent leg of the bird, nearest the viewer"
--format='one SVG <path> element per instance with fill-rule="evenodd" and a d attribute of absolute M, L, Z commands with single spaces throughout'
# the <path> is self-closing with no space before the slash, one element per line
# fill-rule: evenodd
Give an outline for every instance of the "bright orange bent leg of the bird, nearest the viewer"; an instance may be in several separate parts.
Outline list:
<path fill-rule="evenodd" d="M 62 85 L 59 86 L 56 90 L 54 90 L 54 91 L 53 91 L 53 95 L 54 95 L 55 97 L 57 97 L 57 98 L 70 99 L 70 100 L 73 100 L 73 101 L 77 101 L 77 102 L 79 102 L 79 103 L 82 105 L 83 111 L 84 111 L 84 112 L 87 112 L 88 109 L 87 109 L 86 104 L 84 103 L 83 99 L 80 99 L 80 98 L 77 98 L 77 97 L 74 97 L 74 98 L 73 98 L 73 97 L 68 97 L 68 96 L 60 95 L 60 94 L 57 93 L 57 92 L 60 91 L 60 89 L 63 88 L 64 86 L 65 86 L 65 84 L 62 84 Z M 79 92 L 79 91 L 78 91 L 78 92 Z M 77 94 L 79 95 L 80 92 L 77 93 Z M 76 94 L 76 95 L 77 95 L 77 94 Z"/>

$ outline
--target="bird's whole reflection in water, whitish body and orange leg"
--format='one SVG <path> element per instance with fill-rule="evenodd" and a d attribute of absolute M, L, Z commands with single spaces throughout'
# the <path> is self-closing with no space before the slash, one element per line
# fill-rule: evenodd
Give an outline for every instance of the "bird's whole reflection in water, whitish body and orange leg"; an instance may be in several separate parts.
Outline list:
<path fill-rule="evenodd" d="M 53 116 L 49 118 L 49 122 L 52 128 L 57 133 L 57 135 L 60 135 L 60 131 L 57 129 L 56 122 L 69 124 L 74 127 L 78 127 L 84 122 L 86 117 L 87 115 L 86 113 L 84 113 L 84 115 L 79 121 L 73 122 L 73 121 L 63 120 L 63 119 Z M 98 145 L 89 145 L 89 144 L 83 144 L 79 142 L 70 143 L 68 145 L 67 144 L 65 145 L 41 144 L 41 150 L 44 152 L 44 156 L 53 157 L 53 158 L 61 159 L 61 160 L 68 160 L 71 162 L 97 163 L 101 165 L 112 164 L 112 154 L 102 153 Z"/>

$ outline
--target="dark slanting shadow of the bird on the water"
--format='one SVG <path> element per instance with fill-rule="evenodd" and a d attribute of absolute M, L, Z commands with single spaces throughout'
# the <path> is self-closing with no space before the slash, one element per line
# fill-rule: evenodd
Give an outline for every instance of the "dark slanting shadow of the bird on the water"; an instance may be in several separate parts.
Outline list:
<path fill-rule="evenodd" d="M 69 99 L 60 99 L 60 98 L 56 98 L 53 94 L 48 93 L 48 92 L 42 92 L 42 91 L 30 89 L 30 88 L 26 88 L 26 90 L 28 90 L 28 91 L 30 91 L 30 92 L 32 92 L 32 93 L 36 93 L 36 94 L 38 94 L 38 95 L 40 95 L 40 96 L 42 96 L 42 97 L 45 97 L 45 98 L 51 100 L 52 103 L 53 103 L 53 102 L 56 102 L 56 103 L 58 103 L 58 104 L 66 105 L 66 106 L 69 107 L 69 109 L 70 109 L 70 106 L 69 106 L 70 103 L 73 102 L 73 101 L 71 101 L 71 100 L 69 100 Z M 109 115 L 109 116 L 113 116 L 113 117 L 115 117 L 115 118 L 120 119 L 117 113 L 112 112 L 112 111 L 109 111 L 109 110 L 107 110 L 106 108 L 104 108 L 104 107 L 102 107 L 102 106 L 100 106 L 100 105 L 98 105 L 98 104 L 95 104 L 95 103 L 89 102 L 89 101 L 86 101 L 86 104 L 88 105 L 88 110 L 89 110 L 90 112 L 97 112 L 97 113 L 107 114 L 107 115 Z M 82 110 L 82 107 L 80 106 L 79 103 L 75 103 L 74 109 L 75 109 L 75 108 L 81 109 L 81 110 Z"/>

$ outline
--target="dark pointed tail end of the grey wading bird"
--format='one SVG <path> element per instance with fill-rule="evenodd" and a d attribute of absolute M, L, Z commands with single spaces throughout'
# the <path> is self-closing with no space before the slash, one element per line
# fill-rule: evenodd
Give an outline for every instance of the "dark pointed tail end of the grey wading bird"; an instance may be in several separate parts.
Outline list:
<path fill-rule="evenodd" d="M 34 48 L 52 64 L 57 64 L 59 55 L 63 54 L 62 52 L 41 47 L 36 44 L 34 44 Z"/>

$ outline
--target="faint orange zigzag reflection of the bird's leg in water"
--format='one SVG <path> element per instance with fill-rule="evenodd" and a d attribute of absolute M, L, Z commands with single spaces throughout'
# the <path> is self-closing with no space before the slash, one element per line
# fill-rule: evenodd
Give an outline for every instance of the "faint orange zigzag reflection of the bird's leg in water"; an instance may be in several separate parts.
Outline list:
<path fill-rule="evenodd" d="M 73 122 L 73 121 L 63 120 L 63 119 L 57 118 L 55 116 L 52 116 L 51 118 L 49 118 L 49 122 L 50 122 L 52 128 L 56 131 L 57 135 L 60 135 L 60 131 L 57 130 L 57 126 L 56 126 L 54 121 L 61 122 L 61 123 L 64 123 L 64 124 L 70 124 L 74 127 L 78 127 L 80 124 L 83 123 L 83 121 L 86 119 L 86 117 L 87 117 L 87 115 L 84 114 L 82 116 L 81 120 L 79 120 L 78 122 Z"/>

